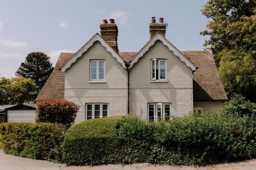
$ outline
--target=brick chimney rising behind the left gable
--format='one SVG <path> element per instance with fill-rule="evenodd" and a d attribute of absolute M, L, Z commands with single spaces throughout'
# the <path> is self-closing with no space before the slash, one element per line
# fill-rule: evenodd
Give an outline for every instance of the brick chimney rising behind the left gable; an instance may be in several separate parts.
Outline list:
<path fill-rule="evenodd" d="M 117 36 L 118 29 L 114 19 L 110 19 L 109 23 L 106 19 L 103 19 L 100 25 L 101 37 L 108 42 L 108 44 L 118 53 Z"/>

